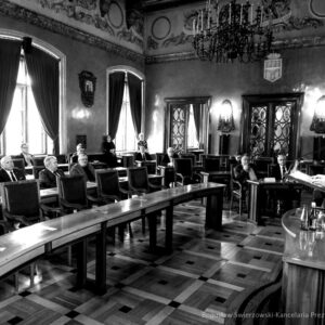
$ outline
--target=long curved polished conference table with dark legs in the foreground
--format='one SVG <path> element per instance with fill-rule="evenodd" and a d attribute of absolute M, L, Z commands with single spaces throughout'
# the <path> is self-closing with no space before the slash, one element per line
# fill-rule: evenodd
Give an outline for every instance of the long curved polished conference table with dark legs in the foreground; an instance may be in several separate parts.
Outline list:
<path fill-rule="evenodd" d="M 91 186 L 90 184 L 89 186 Z M 156 249 L 158 211 L 166 210 L 166 252 L 172 250 L 173 206 L 207 197 L 206 226 L 222 230 L 223 184 L 199 183 L 167 188 L 141 197 L 82 210 L 0 236 L 0 277 L 52 250 L 75 244 L 77 286 L 106 291 L 106 230 L 144 216 L 148 219 L 150 249 Z M 48 191 L 48 190 L 47 190 Z M 48 195 L 54 195 L 54 190 Z M 95 280 L 87 280 L 87 238 L 95 235 Z M 90 287 L 89 287 L 90 285 Z"/>

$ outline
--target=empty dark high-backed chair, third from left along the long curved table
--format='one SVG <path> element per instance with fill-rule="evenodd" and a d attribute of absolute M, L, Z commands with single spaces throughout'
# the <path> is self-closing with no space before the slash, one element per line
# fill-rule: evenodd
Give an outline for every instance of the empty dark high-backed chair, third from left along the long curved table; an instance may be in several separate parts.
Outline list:
<path fill-rule="evenodd" d="M 121 199 L 128 198 L 131 194 L 130 191 L 125 190 L 119 184 L 118 171 L 117 170 L 107 170 L 107 169 L 98 169 L 95 170 L 96 183 L 98 183 L 98 196 L 99 199 L 105 202 L 106 204 L 119 202 Z M 130 223 L 129 233 L 132 237 L 132 229 Z M 119 226 L 119 237 L 123 238 L 125 225 Z"/>

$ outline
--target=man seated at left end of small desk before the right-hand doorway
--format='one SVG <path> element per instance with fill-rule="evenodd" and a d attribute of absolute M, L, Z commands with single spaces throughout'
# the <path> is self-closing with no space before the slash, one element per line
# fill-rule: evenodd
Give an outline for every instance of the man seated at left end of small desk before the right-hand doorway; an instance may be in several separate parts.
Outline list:
<path fill-rule="evenodd" d="M 246 203 L 248 208 L 249 195 L 248 195 L 248 183 L 247 180 L 257 181 L 257 176 L 252 165 L 249 162 L 249 156 L 244 154 L 240 158 L 240 164 L 234 168 L 234 180 L 238 181 L 242 185 L 242 199 Z"/>

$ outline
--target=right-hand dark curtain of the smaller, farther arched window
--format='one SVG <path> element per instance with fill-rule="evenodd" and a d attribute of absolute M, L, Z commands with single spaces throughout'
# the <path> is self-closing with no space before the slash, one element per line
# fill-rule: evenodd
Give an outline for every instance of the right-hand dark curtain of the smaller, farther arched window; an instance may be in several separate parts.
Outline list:
<path fill-rule="evenodd" d="M 132 74 L 128 74 L 128 86 L 132 121 L 138 135 L 141 132 L 142 80 Z"/>

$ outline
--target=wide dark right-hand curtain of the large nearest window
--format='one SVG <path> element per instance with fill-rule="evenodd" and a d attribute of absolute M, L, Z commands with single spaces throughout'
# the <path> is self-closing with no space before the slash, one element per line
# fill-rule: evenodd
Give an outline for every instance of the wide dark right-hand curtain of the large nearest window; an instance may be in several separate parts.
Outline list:
<path fill-rule="evenodd" d="M 58 154 L 58 63 L 52 55 L 35 47 L 25 51 L 32 94 L 47 134 L 53 140 L 53 154 Z"/>

